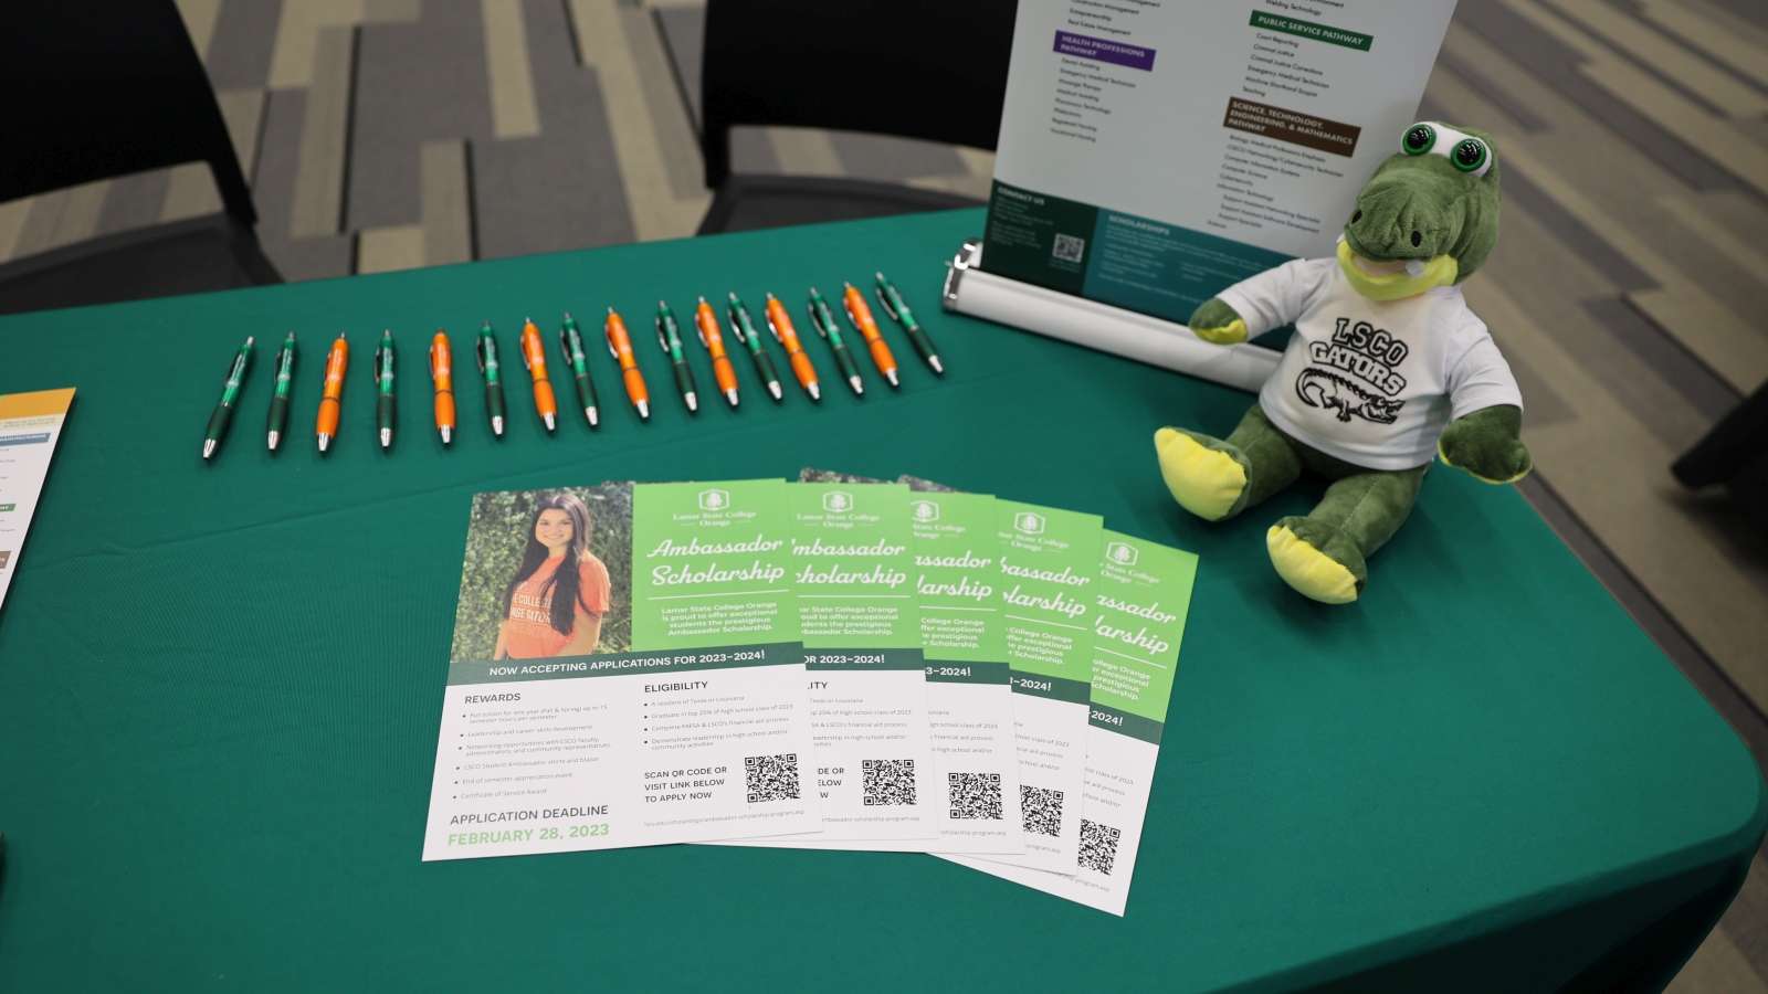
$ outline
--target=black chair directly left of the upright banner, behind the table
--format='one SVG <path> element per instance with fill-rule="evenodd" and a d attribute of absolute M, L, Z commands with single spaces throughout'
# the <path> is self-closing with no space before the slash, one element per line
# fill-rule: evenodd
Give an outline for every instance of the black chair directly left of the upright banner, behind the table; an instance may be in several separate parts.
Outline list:
<path fill-rule="evenodd" d="M 700 233 L 976 207 L 836 177 L 734 175 L 730 129 L 826 127 L 994 149 L 1015 0 L 711 0 L 700 67 Z"/>

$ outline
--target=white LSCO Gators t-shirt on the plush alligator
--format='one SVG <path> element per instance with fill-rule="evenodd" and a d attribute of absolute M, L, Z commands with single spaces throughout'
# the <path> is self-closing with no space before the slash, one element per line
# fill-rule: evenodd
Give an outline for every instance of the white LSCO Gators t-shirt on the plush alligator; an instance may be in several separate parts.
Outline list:
<path fill-rule="evenodd" d="M 1250 338 L 1296 322 L 1259 405 L 1296 440 L 1349 463 L 1425 465 L 1450 419 L 1497 403 L 1522 407 L 1510 364 L 1460 287 L 1370 301 L 1337 258 L 1298 258 L 1220 297 Z"/>

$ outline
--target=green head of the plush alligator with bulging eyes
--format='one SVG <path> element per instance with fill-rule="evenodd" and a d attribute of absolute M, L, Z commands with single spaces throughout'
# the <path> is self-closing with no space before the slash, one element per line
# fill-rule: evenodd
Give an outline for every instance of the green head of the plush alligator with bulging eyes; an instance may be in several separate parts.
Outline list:
<path fill-rule="evenodd" d="M 1421 120 L 1356 195 L 1338 262 L 1365 297 L 1393 301 L 1460 283 L 1497 244 L 1497 145 Z"/>

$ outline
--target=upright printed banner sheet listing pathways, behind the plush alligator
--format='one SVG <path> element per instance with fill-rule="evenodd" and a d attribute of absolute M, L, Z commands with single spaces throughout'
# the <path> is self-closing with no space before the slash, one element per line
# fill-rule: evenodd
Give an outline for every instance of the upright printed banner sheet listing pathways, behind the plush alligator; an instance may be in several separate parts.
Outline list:
<path fill-rule="evenodd" d="M 981 267 L 1186 322 L 1333 251 L 1455 0 L 1022 0 Z"/>

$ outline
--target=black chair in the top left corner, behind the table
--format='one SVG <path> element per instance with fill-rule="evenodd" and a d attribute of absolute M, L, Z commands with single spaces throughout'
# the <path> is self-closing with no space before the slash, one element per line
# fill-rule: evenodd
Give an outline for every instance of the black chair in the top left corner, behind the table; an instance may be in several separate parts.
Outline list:
<path fill-rule="evenodd" d="M 221 108 L 173 0 L 0 9 L 0 203 L 203 161 L 221 214 L 0 265 L 0 313 L 281 283 Z"/>

